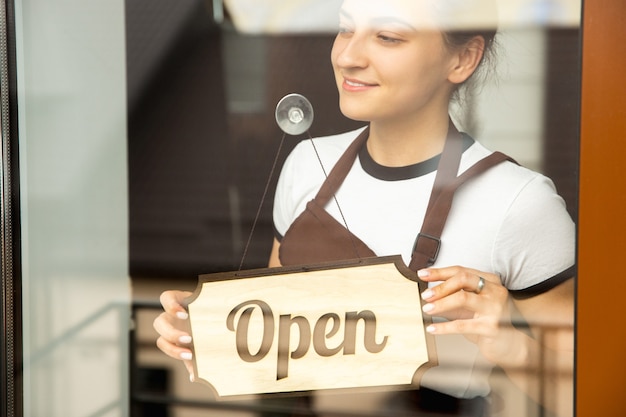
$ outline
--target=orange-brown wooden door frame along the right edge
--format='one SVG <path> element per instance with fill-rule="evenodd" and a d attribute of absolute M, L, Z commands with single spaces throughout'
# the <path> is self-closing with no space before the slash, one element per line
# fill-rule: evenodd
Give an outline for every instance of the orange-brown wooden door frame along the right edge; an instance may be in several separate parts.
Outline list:
<path fill-rule="evenodd" d="M 576 412 L 626 415 L 626 2 L 583 4 Z M 567 71 L 567 69 L 564 69 Z"/>

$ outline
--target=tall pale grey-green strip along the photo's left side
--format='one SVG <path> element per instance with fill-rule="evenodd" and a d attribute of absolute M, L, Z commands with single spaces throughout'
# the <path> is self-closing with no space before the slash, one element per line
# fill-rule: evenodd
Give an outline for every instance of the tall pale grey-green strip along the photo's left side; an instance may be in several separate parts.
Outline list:
<path fill-rule="evenodd" d="M 128 414 L 123 0 L 17 0 L 25 416 Z"/>

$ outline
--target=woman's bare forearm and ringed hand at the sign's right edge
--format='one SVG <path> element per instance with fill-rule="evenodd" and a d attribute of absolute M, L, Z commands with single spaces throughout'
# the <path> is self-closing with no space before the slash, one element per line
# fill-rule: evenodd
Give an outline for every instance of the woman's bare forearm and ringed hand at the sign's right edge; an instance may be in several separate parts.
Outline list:
<path fill-rule="evenodd" d="M 514 300 L 497 275 L 463 267 L 419 271 L 429 282 L 425 312 L 450 321 L 428 331 L 463 334 L 500 366 L 527 395 L 560 416 L 571 416 L 574 364 L 574 280 L 524 300 Z M 478 291 L 480 277 L 485 285 Z M 478 293 L 477 293 L 478 292 Z M 527 323 L 528 328 L 514 323 Z"/>

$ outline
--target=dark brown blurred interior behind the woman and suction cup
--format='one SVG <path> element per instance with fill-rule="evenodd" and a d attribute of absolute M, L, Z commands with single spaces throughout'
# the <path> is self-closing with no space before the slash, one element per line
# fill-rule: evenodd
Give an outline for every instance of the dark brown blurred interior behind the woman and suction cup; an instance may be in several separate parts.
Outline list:
<path fill-rule="evenodd" d="M 127 0 L 130 273 L 195 280 L 239 267 L 282 132 L 281 97 L 315 109 L 311 135 L 357 127 L 338 110 L 332 34 L 246 36 L 203 0 Z M 579 31 L 549 33 L 543 171 L 577 215 Z M 301 138 L 288 137 L 278 169 Z M 244 268 L 266 265 L 278 170 Z"/>

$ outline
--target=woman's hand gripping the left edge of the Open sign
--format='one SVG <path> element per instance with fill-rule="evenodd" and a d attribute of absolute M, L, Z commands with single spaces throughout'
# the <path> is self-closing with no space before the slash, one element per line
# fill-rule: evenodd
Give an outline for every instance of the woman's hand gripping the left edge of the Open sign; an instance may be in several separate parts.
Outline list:
<path fill-rule="evenodd" d="M 166 355 L 182 360 L 189 372 L 189 379 L 193 381 L 189 314 L 184 307 L 184 300 L 191 294 L 189 291 L 164 291 L 160 297 L 164 311 L 154 319 L 153 326 L 159 334 L 157 347 Z"/>

